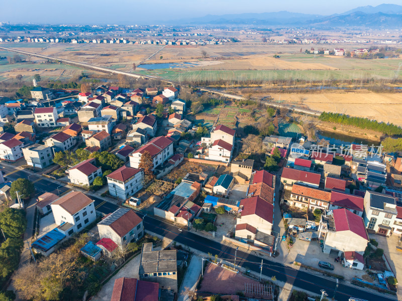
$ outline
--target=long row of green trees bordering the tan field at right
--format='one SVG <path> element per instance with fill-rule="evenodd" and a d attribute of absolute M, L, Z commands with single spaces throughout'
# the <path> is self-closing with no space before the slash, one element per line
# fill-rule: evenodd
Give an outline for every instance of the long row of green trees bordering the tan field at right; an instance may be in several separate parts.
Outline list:
<path fill-rule="evenodd" d="M 371 129 L 385 133 L 387 135 L 402 135 L 402 128 L 392 123 L 386 124 L 384 122 L 378 122 L 375 120 L 370 120 L 368 118 L 361 117 L 349 117 L 340 113 L 327 113 L 322 112 L 320 115 L 320 120 L 340 123 L 343 125 L 352 125 L 360 128 Z"/>

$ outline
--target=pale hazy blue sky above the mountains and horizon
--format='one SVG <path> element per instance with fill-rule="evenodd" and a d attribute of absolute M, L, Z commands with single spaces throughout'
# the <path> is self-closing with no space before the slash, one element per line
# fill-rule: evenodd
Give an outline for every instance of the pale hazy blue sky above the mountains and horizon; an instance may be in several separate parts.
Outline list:
<path fill-rule="evenodd" d="M 401 0 L 383 0 L 402 4 Z M 158 20 L 241 13 L 332 15 L 379 0 L 3 0 L 0 22 L 40 24 L 158 24 Z"/>

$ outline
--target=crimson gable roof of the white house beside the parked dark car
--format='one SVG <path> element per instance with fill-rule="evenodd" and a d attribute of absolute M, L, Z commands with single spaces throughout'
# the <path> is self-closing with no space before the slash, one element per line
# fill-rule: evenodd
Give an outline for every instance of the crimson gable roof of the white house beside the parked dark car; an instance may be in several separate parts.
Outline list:
<path fill-rule="evenodd" d="M 367 231 L 363 219 L 346 209 L 335 209 L 334 222 L 336 231 L 351 231 L 368 241 Z"/>

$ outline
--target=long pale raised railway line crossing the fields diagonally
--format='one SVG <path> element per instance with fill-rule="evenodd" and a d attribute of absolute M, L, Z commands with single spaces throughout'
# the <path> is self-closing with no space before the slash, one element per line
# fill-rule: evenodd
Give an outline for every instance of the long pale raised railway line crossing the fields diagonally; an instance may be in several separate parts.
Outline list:
<path fill-rule="evenodd" d="M 139 74 L 139 73 L 135 73 L 135 72 L 114 70 L 114 69 L 95 66 L 95 65 L 91 65 L 91 64 L 75 62 L 75 61 L 71 61 L 71 60 L 67 60 L 67 59 L 60 59 L 60 58 L 51 57 L 51 56 L 47 56 L 47 55 L 36 54 L 36 53 L 27 52 L 27 51 L 23 51 L 23 50 L 17 50 L 17 49 L 13 49 L 13 48 L 9 48 L 9 47 L 4 47 L 4 46 L 0 46 L 0 49 L 16 52 L 16 53 L 20 53 L 20 54 L 24 54 L 24 55 L 27 55 L 27 56 L 34 56 L 34 57 L 38 57 L 38 58 L 42 58 L 42 59 L 47 59 L 47 60 L 51 60 L 51 61 L 59 61 L 59 62 L 62 62 L 64 64 L 67 64 L 67 65 L 81 67 L 81 68 L 84 68 L 84 69 L 87 69 L 87 70 L 94 70 L 94 71 L 103 72 L 103 73 L 107 73 L 107 74 L 122 74 L 122 75 L 125 75 L 125 76 L 134 77 L 134 78 L 156 79 L 156 80 L 161 80 L 161 81 L 164 81 L 164 82 L 172 84 L 172 85 L 176 85 L 176 86 L 180 85 L 178 82 L 169 81 L 169 80 L 163 79 L 162 77 L 159 77 L 159 76 L 143 75 L 143 74 Z M 236 99 L 236 100 L 244 100 L 245 99 L 241 95 L 232 94 L 232 93 L 228 93 L 228 92 L 222 92 L 222 91 L 206 88 L 206 87 L 203 87 L 203 86 L 191 86 L 191 87 L 199 89 L 201 91 L 205 91 L 205 92 L 217 94 L 217 95 L 220 95 L 220 96 L 223 96 L 223 97 L 231 98 L 231 99 Z M 268 105 L 268 106 L 272 106 L 272 107 L 276 107 L 276 108 L 287 108 L 287 109 L 290 109 L 292 111 L 299 112 L 299 113 L 304 113 L 304 114 L 310 114 L 310 115 L 318 116 L 318 115 L 320 115 L 322 113 L 321 111 L 305 109 L 305 108 L 299 108 L 299 107 L 295 107 L 293 105 L 288 105 L 288 104 L 282 104 L 282 103 L 279 104 L 279 103 L 274 103 L 274 102 L 265 101 L 265 100 L 257 100 L 257 101 L 259 101 L 259 102 L 261 102 L 261 103 L 263 103 L 265 105 Z"/>

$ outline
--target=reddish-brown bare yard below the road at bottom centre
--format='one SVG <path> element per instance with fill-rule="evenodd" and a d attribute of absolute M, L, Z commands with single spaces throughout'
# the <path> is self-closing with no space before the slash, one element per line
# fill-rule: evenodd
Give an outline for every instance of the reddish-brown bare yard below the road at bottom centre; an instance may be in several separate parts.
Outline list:
<path fill-rule="evenodd" d="M 244 283 L 259 282 L 249 279 L 234 271 L 224 269 L 213 263 L 208 263 L 204 279 L 201 282 L 199 292 L 210 292 L 219 294 L 235 294 L 238 291 L 244 290 Z"/>

